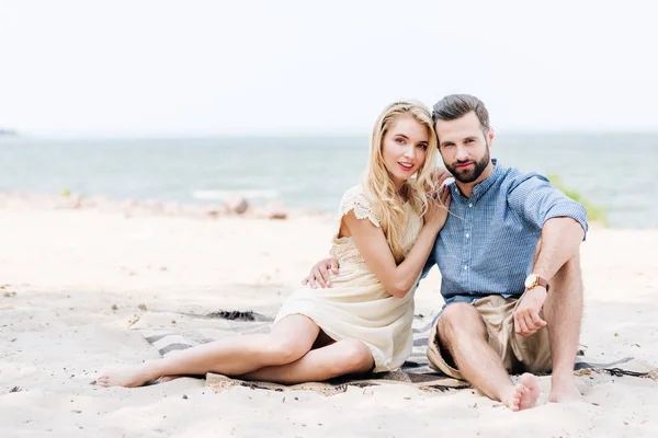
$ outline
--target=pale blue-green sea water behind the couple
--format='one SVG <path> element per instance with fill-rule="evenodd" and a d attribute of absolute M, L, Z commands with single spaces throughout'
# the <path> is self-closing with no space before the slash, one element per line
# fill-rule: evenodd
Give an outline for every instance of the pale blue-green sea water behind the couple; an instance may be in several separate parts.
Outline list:
<path fill-rule="evenodd" d="M 115 199 L 254 204 L 334 211 L 359 182 L 366 137 L 0 138 L 0 191 Z M 504 165 L 559 175 L 608 210 L 610 227 L 658 228 L 658 134 L 498 132 Z"/>

